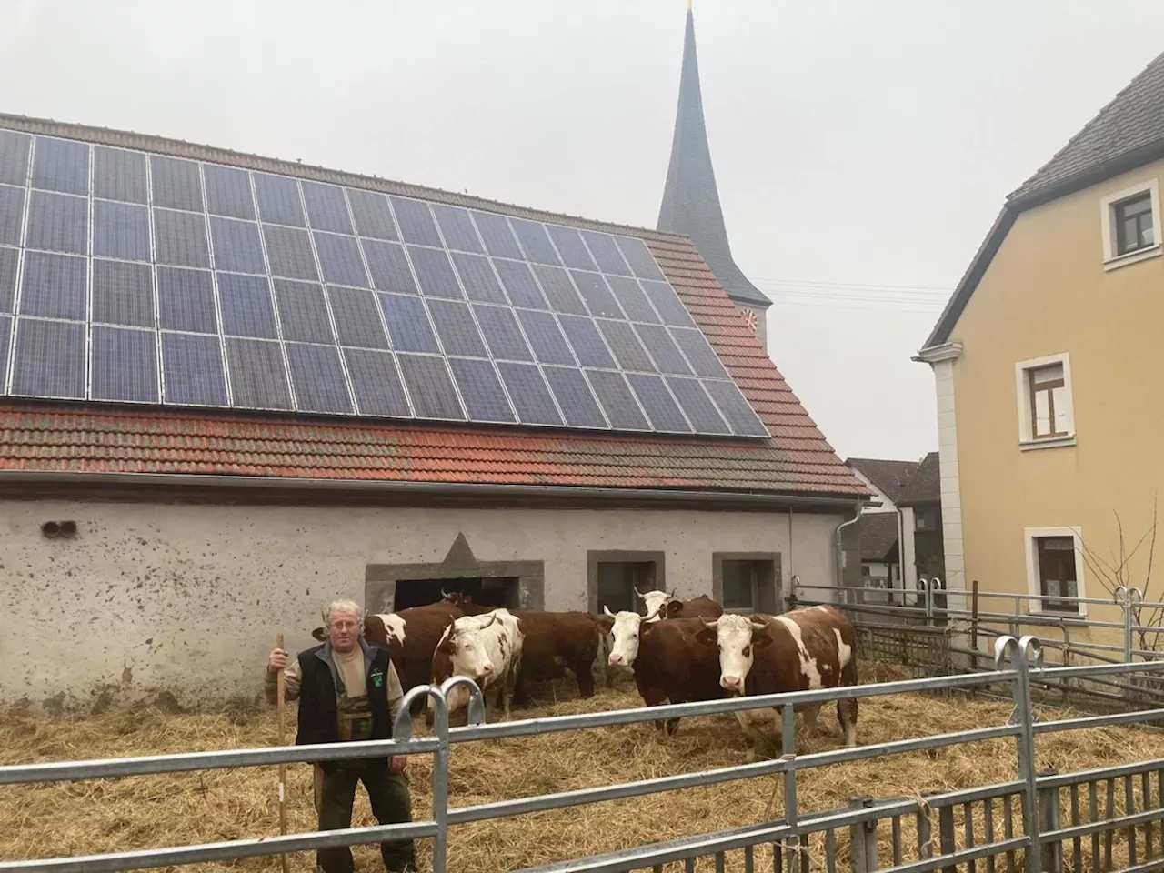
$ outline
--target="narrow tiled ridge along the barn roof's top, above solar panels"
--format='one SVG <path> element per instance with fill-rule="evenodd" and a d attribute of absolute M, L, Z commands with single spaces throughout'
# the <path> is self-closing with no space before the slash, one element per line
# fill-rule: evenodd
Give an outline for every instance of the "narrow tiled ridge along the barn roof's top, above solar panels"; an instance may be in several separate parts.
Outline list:
<path fill-rule="evenodd" d="M 322 177 L 343 177 L 346 182 L 334 182 L 334 184 L 355 184 L 357 187 L 371 185 L 371 190 L 381 190 L 384 193 L 395 193 L 402 197 L 416 197 L 419 199 L 436 200 L 438 203 L 450 203 L 469 208 L 480 208 L 492 212 L 502 212 L 509 215 L 528 217 L 538 221 L 549 221 L 552 223 L 567 223 L 570 226 L 582 226 L 592 229 L 604 229 L 612 233 L 629 233 L 639 239 L 651 239 L 659 241 L 690 239 L 687 234 L 660 230 L 653 227 L 640 227 L 619 221 L 603 221 L 590 219 L 584 215 L 570 215 L 566 212 L 521 206 L 514 203 L 496 200 L 475 194 L 463 194 L 446 189 L 420 185 L 412 182 L 390 179 L 383 176 L 368 176 L 367 173 L 353 172 L 350 170 L 339 170 L 320 164 L 305 164 L 299 161 L 288 161 L 281 157 L 269 157 L 250 151 L 239 151 L 208 143 L 179 140 L 172 136 L 161 136 L 158 134 L 143 134 L 136 130 L 123 130 L 113 127 L 97 127 L 83 125 L 77 121 L 57 121 L 35 115 L 17 115 L 14 113 L 0 112 L 0 127 L 22 130 L 30 134 L 43 134 L 45 136 L 61 136 L 63 139 L 79 139 L 85 142 L 99 146 L 116 146 L 120 148 L 139 149 L 173 157 L 186 157 L 193 161 L 206 161 L 210 163 L 222 163 L 232 166 L 255 169 L 265 172 L 281 172 L 298 178 L 314 178 L 314 175 Z M 37 127 L 49 128 L 40 130 Z M 119 142 L 129 139 L 137 144 Z M 193 152 L 193 154 L 191 154 Z M 255 166 L 255 164 L 265 166 Z M 306 172 L 305 172 L 306 171 Z M 324 179 L 326 180 L 326 178 Z M 353 182 L 354 180 L 354 182 Z M 361 185 L 360 183 L 363 183 Z M 534 218 L 538 217 L 538 218 Z"/>

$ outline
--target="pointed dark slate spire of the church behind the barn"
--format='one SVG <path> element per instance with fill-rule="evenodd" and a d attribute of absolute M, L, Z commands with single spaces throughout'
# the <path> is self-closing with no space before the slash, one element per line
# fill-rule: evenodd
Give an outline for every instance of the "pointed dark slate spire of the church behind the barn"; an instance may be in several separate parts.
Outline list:
<path fill-rule="evenodd" d="M 701 257 L 715 274 L 728 296 L 741 310 L 755 311 L 760 322 L 772 305 L 753 285 L 731 256 L 728 228 L 719 206 L 716 173 L 711 166 L 708 130 L 703 121 L 700 92 L 700 64 L 695 55 L 695 17 L 687 2 L 687 33 L 683 36 L 683 70 L 679 83 L 679 108 L 670 146 L 670 166 L 659 207 L 658 229 L 690 236 Z M 762 336 L 762 333 L 761 333 Z"/>

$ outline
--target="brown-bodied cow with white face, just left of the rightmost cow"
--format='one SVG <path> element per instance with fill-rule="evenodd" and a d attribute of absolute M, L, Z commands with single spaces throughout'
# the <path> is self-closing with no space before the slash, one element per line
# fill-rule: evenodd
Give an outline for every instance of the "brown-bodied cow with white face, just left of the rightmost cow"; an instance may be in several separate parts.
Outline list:
<path fill-rule="evenodd" d="M 714 648 L 702 646 L 696 636 L 702 618 L 652 620 L 638 612 L 611 612 L 603 606 L 599 626 L 612 637 L 608 662 L 629 667 L 634 686 L 648 707 L 663 703 L 710 701 L 725 696 L 719 686 L 719 661 Z M 655 721 L 663 736 L 675 736 L 679 719 Z"/>

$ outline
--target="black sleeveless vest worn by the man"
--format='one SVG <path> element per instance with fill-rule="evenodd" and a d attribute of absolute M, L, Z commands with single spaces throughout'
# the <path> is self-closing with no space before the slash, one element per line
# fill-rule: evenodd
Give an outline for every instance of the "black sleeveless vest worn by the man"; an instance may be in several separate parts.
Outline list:
<path fill-rule="evenodd" d="M 339 743 L 339 707 L 335 701 L 335 681 L 332 669 L 317 652 L 318 645 L 299 653 L 299 730 L 296 745 L 315 743 Z M 388 714 L 388 666 L 391 658 L 386 648 L 370 646 L 371 667 L 365 675 L 368 683 L 368 710 L 371 712 L 371 739 L 391 739 L 392 719 Z M 372 676 L 379 674 L 377 686 Z M 362 759 L 363 760 L 363 759 Z M 374 759 L 367 759 L 371 762 Z"/>

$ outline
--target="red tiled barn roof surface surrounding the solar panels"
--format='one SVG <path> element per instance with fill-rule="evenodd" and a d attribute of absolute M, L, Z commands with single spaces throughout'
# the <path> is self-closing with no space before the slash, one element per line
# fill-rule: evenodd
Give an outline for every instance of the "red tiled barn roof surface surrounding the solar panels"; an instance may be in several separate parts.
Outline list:
<path fill-rule="evenodd" d="M 0 400 L 0 470 L 868 495 L 687 237 L 129 132 L 13 115 L 0 115 L 0 123 L 639 236 L 772 432 L 768 440 L 741 443 L 6 398 Z"/>

